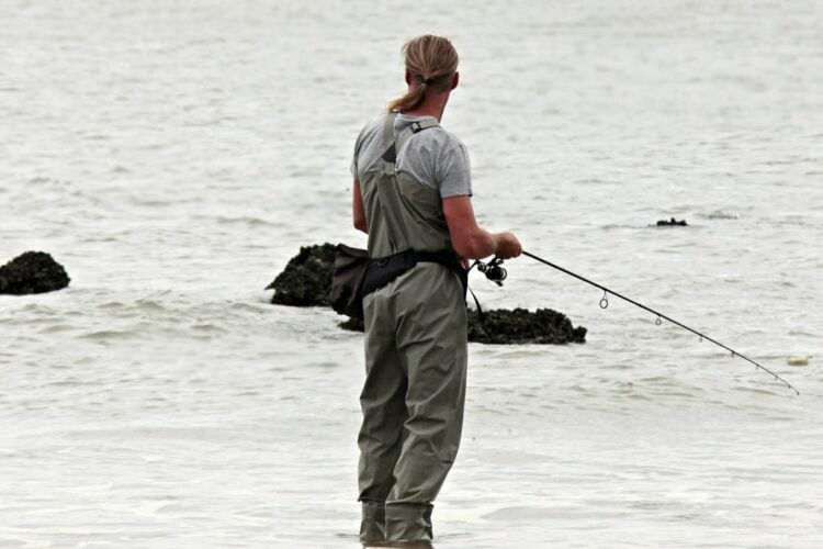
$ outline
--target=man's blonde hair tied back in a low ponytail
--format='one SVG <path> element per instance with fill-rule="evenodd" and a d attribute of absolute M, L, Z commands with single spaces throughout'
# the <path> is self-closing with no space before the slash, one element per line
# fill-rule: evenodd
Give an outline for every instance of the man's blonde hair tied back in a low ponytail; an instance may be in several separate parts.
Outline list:
<path fill-rule="evenodd" d="M 458 71 L 458 51 L 442 36 L 424 34 L 412 38 L 403 46 L 406 70 L 419 85 L 405 96 L 388 103 L 388 112 L 410 111 L 426 99 L 426 90 L 433 88 L 446 91 L 451 76 Z"/>

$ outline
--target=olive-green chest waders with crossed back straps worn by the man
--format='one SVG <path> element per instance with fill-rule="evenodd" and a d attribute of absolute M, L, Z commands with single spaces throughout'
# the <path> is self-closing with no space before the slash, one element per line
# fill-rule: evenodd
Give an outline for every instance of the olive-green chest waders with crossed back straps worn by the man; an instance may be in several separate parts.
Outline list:
<path fill-rule="evenodd" d="M 361 178 L 369 255 L 453 254 L 437 190 L 395 172 L 395 150 L 422 121 L 394 139 Z M 368 278 L 368 277 L 367 277 Z M 363 298 L 365 383 L 358 468 L 362 542 L 430 541 L 431 502 L 458 452 L 466 378 L 464 284 L 441 261 L 419 259 Z"/>

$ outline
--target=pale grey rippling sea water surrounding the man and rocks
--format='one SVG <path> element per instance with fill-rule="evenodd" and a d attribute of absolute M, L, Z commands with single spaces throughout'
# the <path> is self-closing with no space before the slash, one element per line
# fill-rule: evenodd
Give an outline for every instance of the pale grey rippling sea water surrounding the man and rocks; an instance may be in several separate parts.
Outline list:
<path fill-rule="evenodd" d="M 484 305 L 588 343 L 471 346 L 437 547 L 823 544 L 820 2 L 416 5 L 0 4 L 0 261 L 72 278 L 0 296 L 0 546 L 358 546 L 361 336 L 262 288 L 363 244 L 353 138 L 427 31 L 482 223 L 801 391 L 510 261 Z"/>

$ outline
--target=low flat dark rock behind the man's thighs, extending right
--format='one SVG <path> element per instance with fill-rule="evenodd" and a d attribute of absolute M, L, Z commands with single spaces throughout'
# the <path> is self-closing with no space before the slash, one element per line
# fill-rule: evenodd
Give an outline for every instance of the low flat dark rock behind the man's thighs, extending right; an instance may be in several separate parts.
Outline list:
<path fill-rule="evenodd" d="M 363 321 L 349 318 L 340 324 L 343 329 L 363 332 Z M 544 344 L 565 345 L 586 343 L 586 328 L 574 327 L 563 313 L 538 309 L 484 311 L 481 321 L 476 311 L 469 311 L 469 340 L 482 344 Z"/>

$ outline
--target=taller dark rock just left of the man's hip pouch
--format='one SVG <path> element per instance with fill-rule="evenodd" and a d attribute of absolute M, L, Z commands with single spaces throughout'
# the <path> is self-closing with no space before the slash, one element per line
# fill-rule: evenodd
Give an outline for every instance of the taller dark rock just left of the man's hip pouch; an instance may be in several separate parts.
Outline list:
<path fill-rule="evenodd" d="M 267 290 L 274 290 L 271 302 L 292 306 L 328 306 L 331 273 L 337 247 L 334 244 L 302 246 Z"/>

